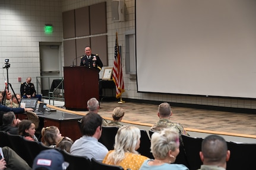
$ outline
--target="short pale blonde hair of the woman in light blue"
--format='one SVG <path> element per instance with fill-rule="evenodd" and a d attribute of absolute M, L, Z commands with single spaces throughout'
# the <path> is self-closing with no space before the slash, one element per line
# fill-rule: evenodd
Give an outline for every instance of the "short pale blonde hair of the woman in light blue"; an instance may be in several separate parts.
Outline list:
<path fill-rule="evenodd" d="M 151 136 L 151 152 L 155 159 L 164 159 L 169 150 L 176 150 L 179 147 L 179 134 L 172 128 L 155 132 Z"/>

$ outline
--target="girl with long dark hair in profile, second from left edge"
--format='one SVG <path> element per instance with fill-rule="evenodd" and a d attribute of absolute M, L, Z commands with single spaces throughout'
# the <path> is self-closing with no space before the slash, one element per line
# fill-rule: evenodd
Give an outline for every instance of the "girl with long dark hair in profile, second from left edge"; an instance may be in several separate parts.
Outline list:
<path fill-rule="evenodd" d="M 36 129 L 31 120 L 21 120 L 20 124 L 18 125 L 18 131 L 21 136 L 25 137 L 25 139 L 38 141 L 37 137 L 34 135 Z"/>

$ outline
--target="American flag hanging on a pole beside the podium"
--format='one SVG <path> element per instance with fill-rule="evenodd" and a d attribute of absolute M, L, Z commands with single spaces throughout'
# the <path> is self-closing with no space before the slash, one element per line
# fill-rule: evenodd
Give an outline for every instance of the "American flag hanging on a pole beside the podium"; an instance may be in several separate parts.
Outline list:
<path fill-rule="evenodd" d="M 115 59 L 113 66 L 113 81 L 116 84 L 116 98 L 121 97 L 122 92 L 125 91 L 124 78 L 122 73 L 122 60 L 118 47 L 118 33 L 116 33 Z"/>

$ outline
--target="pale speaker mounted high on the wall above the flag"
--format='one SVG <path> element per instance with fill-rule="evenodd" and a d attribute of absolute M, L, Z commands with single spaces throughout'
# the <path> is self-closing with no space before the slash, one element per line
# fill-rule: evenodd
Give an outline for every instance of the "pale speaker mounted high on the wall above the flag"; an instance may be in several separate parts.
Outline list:
<path fill-rule="evenodd" d="M 125 20 L 125 2 L 124 0 L 111 1 L 112 21 L 121 22 Z"/>

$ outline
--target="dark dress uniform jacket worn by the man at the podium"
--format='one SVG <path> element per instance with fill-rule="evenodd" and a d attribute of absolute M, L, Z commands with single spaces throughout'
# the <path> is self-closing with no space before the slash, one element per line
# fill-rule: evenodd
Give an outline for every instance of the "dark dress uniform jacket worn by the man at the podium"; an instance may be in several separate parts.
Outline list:
<path fill-rule="evenodd" d="M 102 60 L 100 60 L 100 57 L 98 54 L 91 54 L 90 59 L 88 59 L 88 56 L 81 57 L 81 63 L 80 66 L 85 66 L 90 69 L 95 69 L 100 72 L 103 67 Z"/>

